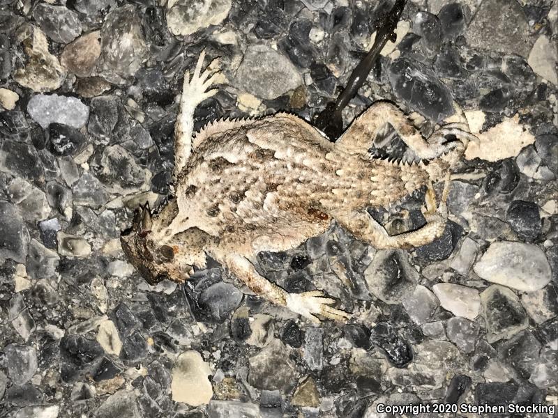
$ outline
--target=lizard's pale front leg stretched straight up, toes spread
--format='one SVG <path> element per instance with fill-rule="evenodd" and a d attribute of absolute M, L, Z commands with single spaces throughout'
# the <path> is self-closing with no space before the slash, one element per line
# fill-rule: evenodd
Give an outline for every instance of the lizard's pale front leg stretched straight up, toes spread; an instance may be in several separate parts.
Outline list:
<path fill-rule="evenodd" d="M 190 72 L 184 74 L 180 110 L 176 125 L 174 125 L 174 180 L 182 171 L 190 153 L 192 153 L 192 135 L 194 132 L 194 111 L 198 104 L 211 98 L 217 93 L 216 88 L 209 89 L 216 79 L 216 73 L 211 74 L 206 68 L 202 72 L 205 52 L 199 54 L 194 73 L 190 79 Z"/>

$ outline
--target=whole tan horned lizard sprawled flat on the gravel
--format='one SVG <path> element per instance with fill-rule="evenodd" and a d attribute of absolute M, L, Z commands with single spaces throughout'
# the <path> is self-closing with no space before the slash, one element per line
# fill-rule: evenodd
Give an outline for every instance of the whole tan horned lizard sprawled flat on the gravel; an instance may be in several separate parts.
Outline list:
<path fill-rule="evenodd" d="M 324 233 L 333 219 L 377 248 L 409 248 L 439 237 L 447 220 L 448 173 L 469 134 L 456 111 L 428 139 L 398 107 L 372 104 L 334 144 L 303 119 L 287 113 L 216 121 L 193 132 L 197 105 L 217 92 L 216 72 L 202 71 L 200 54 L 186 72 L 175 125 L 174 198 L 157 215 L 137 212 L 122 247 L 151 284 L 182 282 L 206 255 L 221 263 L 255 294 L 319 323 L 316 315 L 347 320 L 321 291 L 287 293 L 254 267 L 259 251 L 284 251 Z M 418 160 L 378 160 L 368 152 L 389 123 Z M 432 183 L 445 179 L 438 206 Z M 366 208 L 386 206 L 428 187 L 421 229 L 390 236 Z"/>

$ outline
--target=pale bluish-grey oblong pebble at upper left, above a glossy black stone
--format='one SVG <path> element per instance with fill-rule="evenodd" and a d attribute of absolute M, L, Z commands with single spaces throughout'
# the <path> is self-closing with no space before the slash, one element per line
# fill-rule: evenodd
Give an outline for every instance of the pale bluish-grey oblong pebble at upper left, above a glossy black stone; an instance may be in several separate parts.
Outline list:
<path fill-rule="evenodd" d="M 34 95 L 27 103 L 27 111 L 29 116 L 45 129 L 51 123 L 61 123 L 79 129 L 89 118 L 89 107 L 80 99 L 57 94 Z"/>

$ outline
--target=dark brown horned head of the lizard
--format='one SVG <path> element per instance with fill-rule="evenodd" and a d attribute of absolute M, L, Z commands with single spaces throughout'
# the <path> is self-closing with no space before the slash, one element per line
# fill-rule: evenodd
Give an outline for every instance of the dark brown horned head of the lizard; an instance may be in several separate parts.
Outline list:
<path fill-rule="evenodd" d="M 149 206 L 135 211 L 132 227 L 123 231 L 120 241 L 128 261 L 151 285 L 163 279 L 184 281 L 193 271 L 192 265 L 179 263 L 176 247 L 159 245 L 153 238 L 153 219 Z"/>

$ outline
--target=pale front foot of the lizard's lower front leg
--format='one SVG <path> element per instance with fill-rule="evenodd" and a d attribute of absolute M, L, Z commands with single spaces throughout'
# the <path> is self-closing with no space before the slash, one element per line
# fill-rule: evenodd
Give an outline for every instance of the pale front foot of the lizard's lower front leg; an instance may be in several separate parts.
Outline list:
<path fill-rule="evenodd" d="M 315 323 L 316 325 L 319 325 L 319 319 L 315 316 L 315 314 L 324 316 L 324 318 L 338 320 L 340 322 L 345 322 L 347 319 L 351 318 L 347 312 L 328 306 L 335 303 L 335 299 L 324 297 L 324 293 L 322 291 L 289 293 L 287 294 L 286 299 L 287 308 L 296 312 L 296 314 L 311 320 L 312 323 Z"/>

